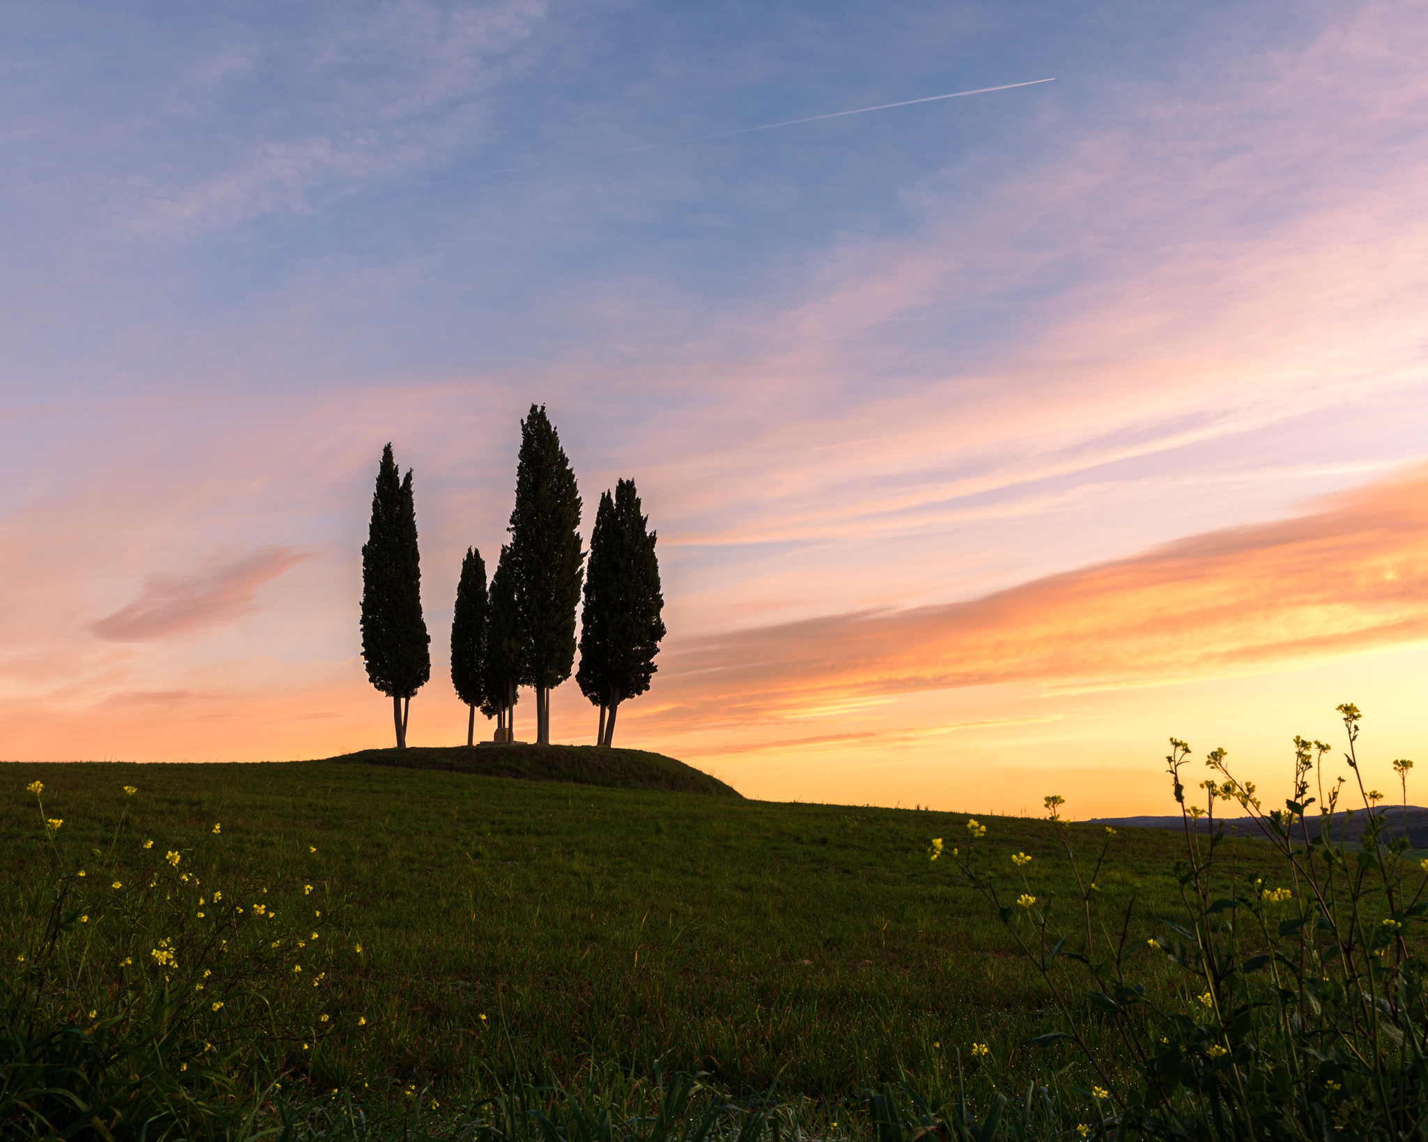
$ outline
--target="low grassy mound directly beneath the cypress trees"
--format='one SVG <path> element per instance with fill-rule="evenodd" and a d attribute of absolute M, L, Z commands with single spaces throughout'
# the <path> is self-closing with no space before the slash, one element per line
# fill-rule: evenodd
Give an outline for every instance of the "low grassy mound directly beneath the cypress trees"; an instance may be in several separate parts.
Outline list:
<path fill-rule="evenodd" d="M 323 759 L 393 765 L 401 769 L 444 769 L 478 777 L 514 777 L 524 781 L 570 781 L 611 789 L 673 789 L 741 797 L 731 785 L 664 754 L 603 749 L 597 745 L 411 745 L 406 749 L 360 749 Z"/>

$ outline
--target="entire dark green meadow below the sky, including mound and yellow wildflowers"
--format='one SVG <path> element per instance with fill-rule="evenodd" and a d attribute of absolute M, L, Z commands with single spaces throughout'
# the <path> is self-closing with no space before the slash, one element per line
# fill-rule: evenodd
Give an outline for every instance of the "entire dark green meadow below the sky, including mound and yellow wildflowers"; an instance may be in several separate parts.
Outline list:
<path fill-rule="evenodd" d="M 1328 839 L 1361 782 L 1305 829 L 1328 749 L 1271 812 L 1172 742 L 1174 795 L 1264 839 L 758 802 L 574 747 L 10 764 L 0 1128 L 1425 1136 L 1428 859 L 1379 808 Z"/>

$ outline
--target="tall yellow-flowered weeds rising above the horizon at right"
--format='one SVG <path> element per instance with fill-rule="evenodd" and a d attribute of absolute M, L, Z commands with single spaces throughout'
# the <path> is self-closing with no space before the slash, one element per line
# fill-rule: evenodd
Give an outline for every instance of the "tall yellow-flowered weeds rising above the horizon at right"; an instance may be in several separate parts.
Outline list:
<path fill-rule="evenodd" d="M 1147 922 L 1134 899 L 1104 906 L 1097 878 L 1114 829 L 1087 865 L 1064 835 L 1071 894 L 1040 886 L 1024 852 L 1010 858 L 1008 876 L 977 821 L 950 851 L 932 841 L 932 859 L 950 855 L 995 911 L 1060 1024 L 1027 1044 L 1044 1052 L 1030 1082 L 974 1044 L 972 1061 L 990 1063 L 978 1075 L 987 1115 L 977 1122 L 958 1103 L 934 1111 L 934 1121 L 985 1139 L 1004 1118 L 1018 1139 L 1428 1138 L 1428 861 L 1411 859 L 1407 838 L 1388 835 L 1384 797 L 1359 768 L 1359 711 L 1338 711 L 1352 778 L 1328 779 L 1331 748 L 1295 738 L 1292 788 L 1271 812 L 1231 774 L 1224 749 L 1207 757 L 1210 777 L 1198 784 L 1207 808 L 1190 805 L 1190 747 L 1171 739 L 1167 771 L 1185 825 L 1174 921 Z M 1405 804 L 1411 765 L 1394 762 Z M 1328 839 L 1345 785 L 1368 817 L 1361 845 Z M 1055 819 L 1061 798 L 1045 801 Z M 1227 859 L 1218 801 L 1259 822 L 1277 876 Z"/>

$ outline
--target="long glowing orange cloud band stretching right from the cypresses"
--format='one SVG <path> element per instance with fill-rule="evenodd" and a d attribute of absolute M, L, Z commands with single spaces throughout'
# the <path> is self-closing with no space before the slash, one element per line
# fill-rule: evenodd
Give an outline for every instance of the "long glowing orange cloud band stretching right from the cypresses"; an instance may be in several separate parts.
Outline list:
<path fill-rule="evenodd" d="M 878 695 L 1214 677 L 1428 638 L 1428 468 L 985 598 L 737 631 L 668 655 L 654 722 Z"/>

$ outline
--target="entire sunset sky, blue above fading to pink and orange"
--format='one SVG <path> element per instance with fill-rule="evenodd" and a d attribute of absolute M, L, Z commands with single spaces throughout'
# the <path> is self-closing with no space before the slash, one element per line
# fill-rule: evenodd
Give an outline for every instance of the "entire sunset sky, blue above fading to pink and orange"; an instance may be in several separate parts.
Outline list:
<path fill-rule="evenodd" d="M 464 741 L 456 581 L 536 403 L 583 534 L 623 477 L 658 532 L 620 745 L 748 797 L 1085 818 L 1171 811 L 1172 735 L 1278 788 L 1352 701 L 1401 797 L 1425 17 L 10 0 L 0 757 L 390 744 L 357 625 L 388 441 L 410 741 Z M 594 739 L 573 681 L 551 709 Z"/>

